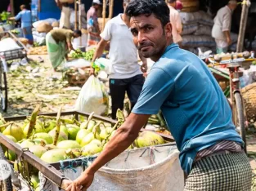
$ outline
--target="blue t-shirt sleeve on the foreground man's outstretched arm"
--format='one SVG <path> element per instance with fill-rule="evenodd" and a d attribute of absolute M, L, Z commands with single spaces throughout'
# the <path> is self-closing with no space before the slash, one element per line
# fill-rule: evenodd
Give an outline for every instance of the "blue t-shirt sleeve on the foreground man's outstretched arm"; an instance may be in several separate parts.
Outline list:
<path fill-rule="evenodd" d="M 164 100 L 172 93 L 173 87 L 174 81 L 170 74 L 163 69 L 151 69 L 132 113 L 149 115 L 158 113 Z"/>

